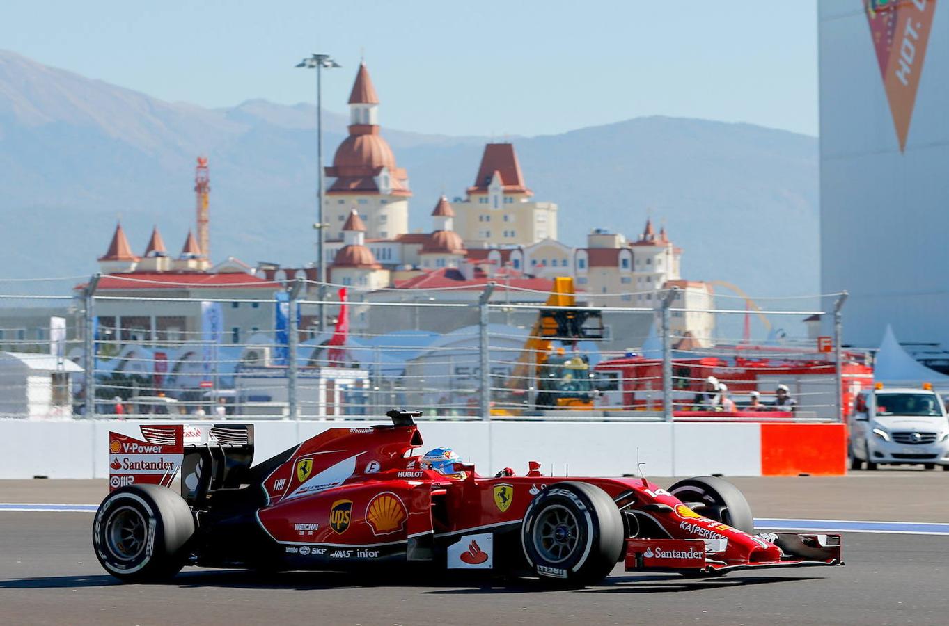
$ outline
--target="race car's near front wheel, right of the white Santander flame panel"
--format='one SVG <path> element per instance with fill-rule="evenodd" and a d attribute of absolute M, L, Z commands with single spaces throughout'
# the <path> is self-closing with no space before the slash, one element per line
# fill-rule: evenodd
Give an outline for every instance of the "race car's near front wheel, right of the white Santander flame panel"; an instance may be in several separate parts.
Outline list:
<path fill-rule="evenodd" d="M 604 580 L 623 554 L 623 517 L 606 492 L 555 483 L 530 502 L 521 526 L 530 568 L 542 580 L 583 586 Z"/>

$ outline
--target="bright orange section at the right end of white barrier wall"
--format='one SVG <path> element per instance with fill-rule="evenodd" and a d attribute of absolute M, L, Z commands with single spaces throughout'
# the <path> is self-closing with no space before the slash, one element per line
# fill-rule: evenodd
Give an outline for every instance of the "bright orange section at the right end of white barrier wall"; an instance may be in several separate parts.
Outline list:
<path fill-rule="evenodd" d="M 762 424 L 761 475 L 847 473 L 844 424 Z"/>

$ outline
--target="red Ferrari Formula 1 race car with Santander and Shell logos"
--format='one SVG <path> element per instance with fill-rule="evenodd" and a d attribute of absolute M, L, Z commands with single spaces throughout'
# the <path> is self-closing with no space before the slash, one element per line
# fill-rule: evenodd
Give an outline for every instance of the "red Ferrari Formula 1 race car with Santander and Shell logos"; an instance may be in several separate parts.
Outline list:
<path fill-rule="evenodd" d="M 428 563 L 566 585 L 627 571 L 714 575 L 841 564 L 839 535 L 754 534 L 751 510 L 714 477 L 668 489 L 645 478 L 544 476 L 530 463 L 479 476 L 422 469 L 413 417 L 336 428 L 251 467 L 251 426 L 110 433 L 110 485 L 93 543 L 121 580 L 182 566 L 339 570 Z M 170 487 L 181 470 L 180 495 Z"/>

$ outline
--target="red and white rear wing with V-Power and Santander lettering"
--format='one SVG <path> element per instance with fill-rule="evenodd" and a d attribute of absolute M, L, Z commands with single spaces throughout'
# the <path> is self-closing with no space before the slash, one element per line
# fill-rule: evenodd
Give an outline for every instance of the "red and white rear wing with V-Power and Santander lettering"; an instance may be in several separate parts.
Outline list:
<path fill-rule="evenodd" d="M 129 424 L 109 432 L 109 488 L 171 487 L 182 471 L 189 502 L 209 490 L 239 485 L 253 460 L 251 424 Z"/>

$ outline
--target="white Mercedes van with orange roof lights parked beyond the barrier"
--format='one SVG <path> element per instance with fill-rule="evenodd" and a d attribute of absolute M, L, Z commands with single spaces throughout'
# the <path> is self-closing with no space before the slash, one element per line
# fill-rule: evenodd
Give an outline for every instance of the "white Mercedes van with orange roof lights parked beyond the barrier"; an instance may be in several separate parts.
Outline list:
<path fill-rule="evenodd" d="M 850 469 L 921 463 L 926 470 L 949 466 L 949 419 L 942 398 L 922 389 L 875 389 L 860 392 L 847 420 Z"/>

